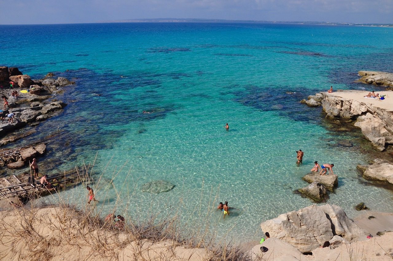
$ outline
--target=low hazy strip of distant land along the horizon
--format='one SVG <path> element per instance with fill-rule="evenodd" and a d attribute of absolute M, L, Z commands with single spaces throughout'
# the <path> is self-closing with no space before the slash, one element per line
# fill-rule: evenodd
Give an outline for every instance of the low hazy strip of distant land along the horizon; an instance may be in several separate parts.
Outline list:
<path fill-rule="evenodd" d="M 393 24 L 356 24 L 335 22 L 299 22 L 299 21 L 263 21 L 263 20 L 225 20 L 225 19 L 202 19 L 202 18 L 144 18 L 126 20 L 108 20 L 101 23 L 255 23 L 255 24 L 320 24 L 331 26 L 373 26 L 393 27 Z"/>

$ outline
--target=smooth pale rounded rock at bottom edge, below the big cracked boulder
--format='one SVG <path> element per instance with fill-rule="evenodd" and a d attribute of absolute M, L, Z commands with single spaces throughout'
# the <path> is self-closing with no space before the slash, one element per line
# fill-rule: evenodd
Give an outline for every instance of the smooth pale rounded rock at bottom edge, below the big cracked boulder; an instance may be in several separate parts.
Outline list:
<path fill-rule="evenodd" d="M 267 252 L 261 251 L 263 246 L 268 248 Z M 251 260 L 255 261 L 296 261 L 305 259 L 304 255 L 297 248 L 273 237 L 266 239 L 262 244 L 254 246 L 250 254 Z"/>

